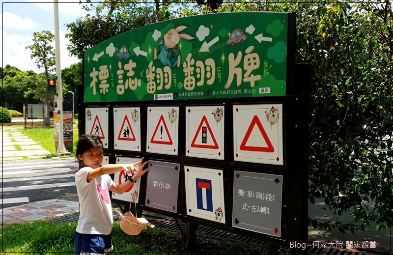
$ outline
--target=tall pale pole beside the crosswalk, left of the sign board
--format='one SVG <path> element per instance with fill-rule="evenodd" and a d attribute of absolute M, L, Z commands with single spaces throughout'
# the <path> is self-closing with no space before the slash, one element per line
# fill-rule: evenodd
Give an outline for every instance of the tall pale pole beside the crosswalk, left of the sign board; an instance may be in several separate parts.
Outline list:
<path fill-rule="evenodd" d="M 60 117 L 57 124 L 58 145 L 56 153 L 69 153 L 64 146 L 64 131 L 63 131 L 63 87 L 61 85 L 61 67 L 60 67 L 60 35 L 58 22 L 58 0 L 53 3 L 55 12 L 55 57 L 56 57 L 56 75 L 57 75 L 57 114 Z"/>

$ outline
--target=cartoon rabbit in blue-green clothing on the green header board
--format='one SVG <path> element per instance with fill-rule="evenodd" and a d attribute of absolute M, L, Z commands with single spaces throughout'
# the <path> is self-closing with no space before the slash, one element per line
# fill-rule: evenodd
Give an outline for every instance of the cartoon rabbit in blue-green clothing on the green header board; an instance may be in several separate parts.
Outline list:
<path fill-rule="evenodd" d="M 170 67 L 177 65 L 180 66 L 180 49 L 177 48 L 177 44 L 180 42 L 180 38 L 186 40 L 192 40 L 195 37 L 191 35 L 179 32 L 187 28 L 186 26 L 179 26 L 177 28 L 171 28 L 164 34 L 164 42 L 160 41 L 160 51 L 157 53 L 157 49 L 154 48 L 154 59 L 160 60 L 163 65 Z"/>

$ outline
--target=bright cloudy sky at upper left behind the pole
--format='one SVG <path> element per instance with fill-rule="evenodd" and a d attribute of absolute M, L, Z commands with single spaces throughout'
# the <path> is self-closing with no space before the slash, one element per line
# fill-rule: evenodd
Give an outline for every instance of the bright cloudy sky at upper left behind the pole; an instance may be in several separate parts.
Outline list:
<path fill-rule="evenodd" d="M 58 0 L 61 69 L 79 62 L 78 58 L 69 56 L 66 49 L 69 41 L 65 34 L 69 31 L 65 24 L 72 23 L 85 14 L 79 0 Z M 1 66 L 9 64 L 22 71 L 44 72 L 30 58 L 31 52 L 26 47 L 33 43 L 34 32 L 50 30 L 55 34 L 54 0 L 5 0 L 1 4 L 0 22 Z M 52 46 L 55 49 L 55 40 Z"/>

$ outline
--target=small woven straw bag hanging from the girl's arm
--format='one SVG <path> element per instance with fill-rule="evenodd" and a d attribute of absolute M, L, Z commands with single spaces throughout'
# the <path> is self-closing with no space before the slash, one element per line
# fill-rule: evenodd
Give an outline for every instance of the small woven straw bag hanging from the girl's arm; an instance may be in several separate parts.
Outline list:
<path fill-rule="evenodd" d="M 135 182 L 134 182 L 135 185 Z M 154 225 L 150 224 L 145 218 L 137 218 L 131 213 L 131 204 L 132 200 L 130 201 L 130 208 L 129 211 L 126 213 L 121 213 L 118 210 L 115 210 L 120 217 L 120 228 L 123 230 L 124 233 L 128 235 L 138 235 L 142 232 L 143 229 L 147 227 L 154 227 Z M 135 205 L 135 215 L 137 215 L 137 206 Z"/>

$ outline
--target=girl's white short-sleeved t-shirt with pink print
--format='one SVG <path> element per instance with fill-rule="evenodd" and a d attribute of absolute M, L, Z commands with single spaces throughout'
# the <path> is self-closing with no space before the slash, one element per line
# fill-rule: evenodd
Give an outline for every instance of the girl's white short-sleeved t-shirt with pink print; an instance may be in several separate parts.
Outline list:
<path fill-rule="evenodd" d="M 101 175 L 90 182 L 87 173 L 92 170 L 84 167 L 75 174 L 75 182 L 80 203 L 77 232 L 81 234 L 103 234 L 112 232 L 113 215 L 109 189 L 113 181 L 109 174 Z"/>

